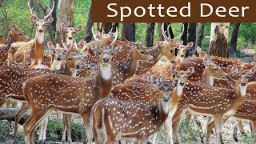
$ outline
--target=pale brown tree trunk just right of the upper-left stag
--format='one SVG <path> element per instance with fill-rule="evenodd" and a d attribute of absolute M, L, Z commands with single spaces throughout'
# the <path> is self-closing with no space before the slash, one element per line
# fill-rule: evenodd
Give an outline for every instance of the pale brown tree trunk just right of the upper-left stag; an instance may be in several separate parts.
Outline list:
<path fill-rule="evenodd" d="M 74 26 L 74 0 L 58 1 L 58 19 L 56 24 L 56 42 L 62 46 L 64 34 L 61 28 L 61 22 L 65 22 L 66 26 Z"/>

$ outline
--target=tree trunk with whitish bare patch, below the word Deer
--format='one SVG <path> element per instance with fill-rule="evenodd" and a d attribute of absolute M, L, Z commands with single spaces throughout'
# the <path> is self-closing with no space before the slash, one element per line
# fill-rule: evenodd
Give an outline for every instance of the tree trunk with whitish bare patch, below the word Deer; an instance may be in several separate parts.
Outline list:
<path fill-rule="evenodd" d="M 210 54 L 228 58 L 228 37 L 230 23 L 211 23 Z"/>

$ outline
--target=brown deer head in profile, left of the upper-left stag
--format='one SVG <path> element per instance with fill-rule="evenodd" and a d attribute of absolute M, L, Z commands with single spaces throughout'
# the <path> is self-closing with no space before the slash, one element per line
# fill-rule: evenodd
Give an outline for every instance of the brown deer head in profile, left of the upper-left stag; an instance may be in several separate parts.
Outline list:
<path fill-rule="evenodd" d="M 11 43 L 13 42 L 27 42 L 30 40 L 25 34 L 22 34 L 20 30 L 18 30 L 17 26 L 14 26 L 13 23 L 10 23 L 8 32 L 8 38 L 10 37 Z"/>

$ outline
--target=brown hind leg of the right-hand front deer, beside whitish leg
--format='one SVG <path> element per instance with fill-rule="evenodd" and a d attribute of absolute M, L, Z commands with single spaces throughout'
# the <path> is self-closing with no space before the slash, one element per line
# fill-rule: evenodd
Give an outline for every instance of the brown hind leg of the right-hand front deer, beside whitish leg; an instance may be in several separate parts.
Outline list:
<path fill-rule="evenodd" d="M 180 111 L 176 111 L 176 113 L 174 114 L 174 122 L 173 122 L 173 128 L 174 128 L 174 133 L 175 133 L 175 137 L 177 139 L 177 142 L 180 144 L 182 143 L 182 139 L 178 133 L 178 127 L 180 125 L 180 123 L 182 122 L 182 118 L 184 117 L 184 114 L 186 114 L 186 111 L 184 110 L 180 110 Z"/>

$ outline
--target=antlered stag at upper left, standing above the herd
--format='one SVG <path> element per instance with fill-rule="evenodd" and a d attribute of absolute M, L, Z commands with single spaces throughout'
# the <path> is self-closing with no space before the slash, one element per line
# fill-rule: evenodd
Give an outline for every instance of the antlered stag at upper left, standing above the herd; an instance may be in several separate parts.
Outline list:
<path fill-rule="evenodd" d="M 30 2 L 28 2 L 28 5 L 30 7 Z M 24 63 L 27 61 L 31 62 L 29 68 L 42 64 L 45 29 L 46 26 L 54 20 L 54 18 L 51 17 L 53 10 L 54 3 L 49 14 L 47 14 L 43 19 L 39 19 L 38 16 L 34 14 L 33 8 L 30 7 L 30 14 L 32 15 L 30 16 L 30 22 L 36 26 L 35 37 L 29 42 L 15 42 L 11 44 L 7 58 L 8 66 L 11 66 L 10 62 L 12 59 L 17 59 L 18 62 Z"/>

